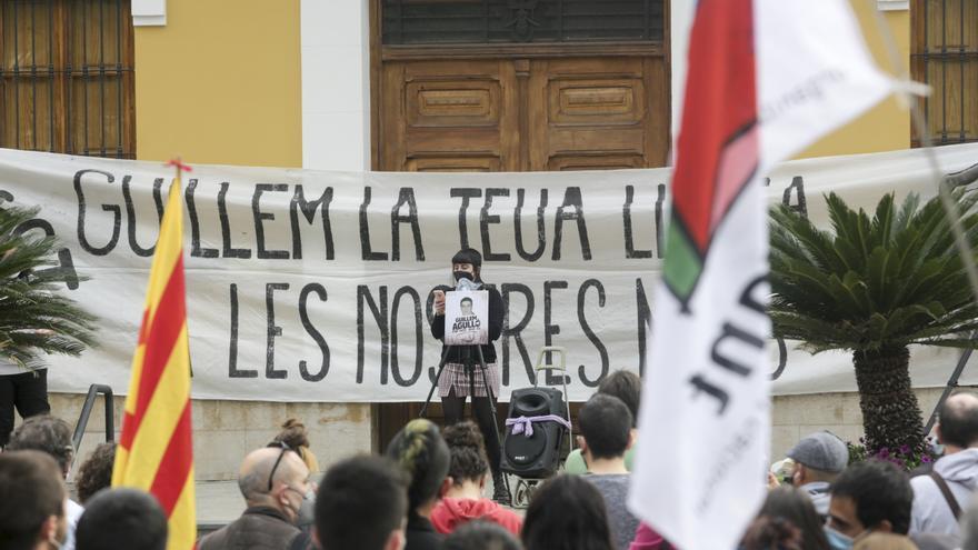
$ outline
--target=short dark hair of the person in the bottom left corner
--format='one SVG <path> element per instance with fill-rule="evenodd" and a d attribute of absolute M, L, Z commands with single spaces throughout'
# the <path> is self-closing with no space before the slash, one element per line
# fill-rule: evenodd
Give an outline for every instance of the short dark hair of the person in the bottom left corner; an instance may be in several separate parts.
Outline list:
<path fill-rule="evenodd" d="M 10 550 L 32 549 L 44 521 L 64 516 L 68 492 L 58 462 L 34 451 L 0 452 L 0 542 Z"/>

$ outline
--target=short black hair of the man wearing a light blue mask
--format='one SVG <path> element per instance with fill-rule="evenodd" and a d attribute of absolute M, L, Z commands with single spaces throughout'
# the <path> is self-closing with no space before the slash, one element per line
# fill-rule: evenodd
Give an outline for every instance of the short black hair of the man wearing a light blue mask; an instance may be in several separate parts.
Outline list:
<path fill-rule="evenodd" d="M 890 462 L 867 460 L 847 468 L 831 486 L 832 498 L 848 497 L 856 503 L 856 517 L 867 529 L 884 520 L 892 531 L 907 534 L 914 490 L 907 473 Z"/>

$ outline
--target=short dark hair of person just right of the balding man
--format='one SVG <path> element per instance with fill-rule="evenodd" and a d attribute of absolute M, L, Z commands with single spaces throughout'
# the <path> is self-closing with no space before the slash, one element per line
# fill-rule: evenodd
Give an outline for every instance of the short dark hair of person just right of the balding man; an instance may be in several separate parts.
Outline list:
<path fill-rule="evenodd" d="M 392 460 L 353 457 L 326 472 L 316 497 L 323 549 L 382 550 L 408 511 L 408 478 Z"/>

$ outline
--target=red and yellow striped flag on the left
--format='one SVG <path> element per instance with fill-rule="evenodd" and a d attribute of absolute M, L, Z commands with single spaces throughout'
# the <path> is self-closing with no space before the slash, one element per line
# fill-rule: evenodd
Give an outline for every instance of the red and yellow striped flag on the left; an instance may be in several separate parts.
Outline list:
<path fill-rule="evenodd" d="M 112 470 L 112 487 L 120 486 L 149 491 L 160 501 L 169 518 L 167 550 L 193 548 L 197 520 L 179 174 L 170 186 L 132 358 L 122 437 Z"/>

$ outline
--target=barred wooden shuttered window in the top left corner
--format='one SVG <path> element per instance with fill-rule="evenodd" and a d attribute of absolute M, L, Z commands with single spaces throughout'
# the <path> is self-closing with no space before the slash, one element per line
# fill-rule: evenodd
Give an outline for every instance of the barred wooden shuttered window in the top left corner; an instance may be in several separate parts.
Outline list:
<path fill-rule="evenodd" d="M 0 147 L 136 157 L 128 0 L 0 0 Z"/>

